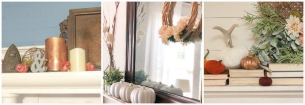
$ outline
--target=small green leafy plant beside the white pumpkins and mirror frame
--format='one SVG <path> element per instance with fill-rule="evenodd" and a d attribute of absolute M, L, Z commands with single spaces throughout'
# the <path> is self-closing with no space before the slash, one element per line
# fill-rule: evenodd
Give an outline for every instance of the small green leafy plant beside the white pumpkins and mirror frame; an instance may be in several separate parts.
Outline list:
<path fill-rule="evenodd" d="M 124 78 L 124 72 L 119 71 L 119 68 L 113 69 L 113 71 L 104 71 L 104 82 L 106 85 L 111 85 L 115 82 L 119 82 Z"/>

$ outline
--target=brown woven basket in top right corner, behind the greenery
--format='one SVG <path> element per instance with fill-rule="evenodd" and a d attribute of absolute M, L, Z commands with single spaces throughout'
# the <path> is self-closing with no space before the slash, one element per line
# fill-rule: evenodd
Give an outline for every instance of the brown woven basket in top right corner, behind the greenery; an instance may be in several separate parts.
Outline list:
<path fill-rule="evenodd" d="M 265 4 L 280 12 L 286 19 L 289 18 L 291 10 L 299 12 L 303 16 L 303 2 L 258 2 L 259 5 Z"/>

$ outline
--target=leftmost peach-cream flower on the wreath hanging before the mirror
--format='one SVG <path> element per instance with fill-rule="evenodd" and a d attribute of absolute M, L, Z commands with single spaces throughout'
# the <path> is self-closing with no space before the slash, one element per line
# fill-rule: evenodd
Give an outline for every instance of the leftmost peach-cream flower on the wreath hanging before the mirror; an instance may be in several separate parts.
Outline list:
<path fill-rule="evenodd" d="M 168 44 L 168 38 L 172 36 L 173 34 L 173 27 L 172 26 L 167 26 L 163 25 L 159 29 L 159 38 L 161 38 L 162 43 Z"/>

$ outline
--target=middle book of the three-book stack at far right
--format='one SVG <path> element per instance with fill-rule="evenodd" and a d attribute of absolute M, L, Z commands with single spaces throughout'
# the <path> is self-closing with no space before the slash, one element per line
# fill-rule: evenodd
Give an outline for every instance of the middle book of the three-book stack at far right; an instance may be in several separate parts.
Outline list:
<path fill-rule="evenodd" d="M 303 77 L 303 72 L 267 72 L 268 77 Z"/>

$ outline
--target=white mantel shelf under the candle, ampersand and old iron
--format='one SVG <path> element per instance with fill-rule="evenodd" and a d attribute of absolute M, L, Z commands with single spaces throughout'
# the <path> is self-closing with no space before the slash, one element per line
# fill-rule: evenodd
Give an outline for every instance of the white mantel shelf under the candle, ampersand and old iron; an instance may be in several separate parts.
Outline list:
<path fill-rule="evenodd" d="M 101 76 L 101 71 L 3 73 L 2 93 L 100 94 Z"/>

